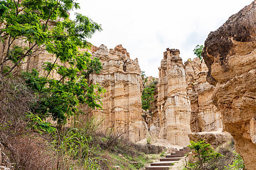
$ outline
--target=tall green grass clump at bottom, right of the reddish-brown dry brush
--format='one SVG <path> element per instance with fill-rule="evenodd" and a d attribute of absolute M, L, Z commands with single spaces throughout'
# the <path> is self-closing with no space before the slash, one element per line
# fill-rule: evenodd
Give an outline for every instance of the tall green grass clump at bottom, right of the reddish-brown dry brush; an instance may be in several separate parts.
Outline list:
<path fill-rule="evenodd" d="M 100 122 L 95 118 L 80 122 L 75 119 L 72 127 L 64 128 L 58 133 L 57 170 L 101 170 L 99 147 L 96 138 Z M 83 127 L 81 127 L 83 125 Z"/>

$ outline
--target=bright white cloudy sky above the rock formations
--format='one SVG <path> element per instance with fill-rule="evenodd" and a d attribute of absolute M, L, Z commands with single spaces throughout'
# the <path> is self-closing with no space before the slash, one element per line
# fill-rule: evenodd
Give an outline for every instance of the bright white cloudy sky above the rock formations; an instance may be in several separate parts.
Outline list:
<path fill-rule="evenodd" d="M 138 58 L 147 76 L 158 77 L 166 48 L 178 49 L 183 62 L 195 58 L 194 48 L 208 34 L 253 0 L 77 0 L 80 13 L 101 24 L 88 39 L 114 49 L 122 44 Z"/>

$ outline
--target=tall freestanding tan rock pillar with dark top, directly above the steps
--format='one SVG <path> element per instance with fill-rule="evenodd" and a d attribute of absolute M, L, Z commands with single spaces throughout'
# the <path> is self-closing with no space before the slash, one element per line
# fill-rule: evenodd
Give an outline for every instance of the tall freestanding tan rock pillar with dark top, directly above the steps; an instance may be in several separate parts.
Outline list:
<path fill-rule="evenodd" d="M 158 115 L 153 115 L 149 129 L 171 144 L 186 146 L 189 144 L 187 134 L 191 132 L 190 101 L 179 51 L 167 49 L 158 69 Z"/>

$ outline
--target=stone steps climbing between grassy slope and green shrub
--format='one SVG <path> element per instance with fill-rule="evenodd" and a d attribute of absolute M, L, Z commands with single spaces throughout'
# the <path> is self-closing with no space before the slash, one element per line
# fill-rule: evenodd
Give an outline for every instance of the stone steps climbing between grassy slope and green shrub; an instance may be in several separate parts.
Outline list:
<path fill-rule="evenodd" d="M 145 170 L 169 170 L 170 166 L 189 152 L 190 149 L 188 147 L 184 147 L 175 153 L 167 154 L 165 158 L 161 158 L 159 162 L 151 163 L 150 166 L 147 166 Z"/>

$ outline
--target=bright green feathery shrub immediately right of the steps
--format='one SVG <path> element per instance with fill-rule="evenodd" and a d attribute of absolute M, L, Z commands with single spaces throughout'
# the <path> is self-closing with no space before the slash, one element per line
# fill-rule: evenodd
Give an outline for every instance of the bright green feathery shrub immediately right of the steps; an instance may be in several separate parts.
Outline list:
<path fill-rule="evenodd" d="M 215 170 L 217 161 L 223 157 L 222 154 L 214 151 L 210 144 L 204 141 L 190 141 L 189 148 L 192 150 L 192 157 L 187 162 L 185 168 L 187 170 Z"/>

